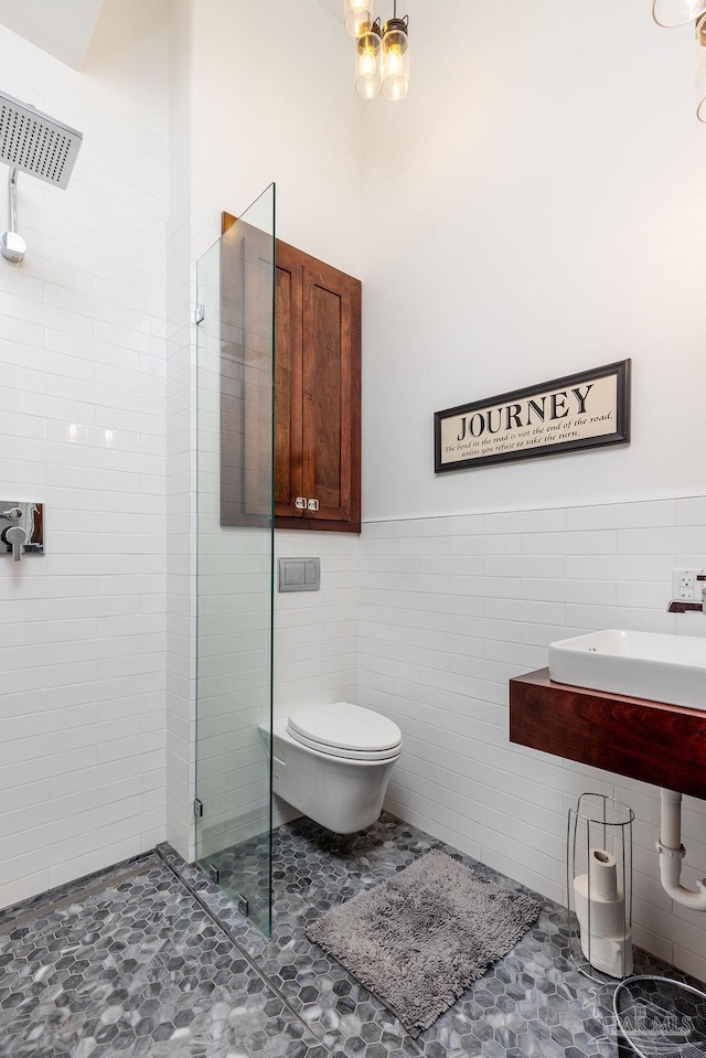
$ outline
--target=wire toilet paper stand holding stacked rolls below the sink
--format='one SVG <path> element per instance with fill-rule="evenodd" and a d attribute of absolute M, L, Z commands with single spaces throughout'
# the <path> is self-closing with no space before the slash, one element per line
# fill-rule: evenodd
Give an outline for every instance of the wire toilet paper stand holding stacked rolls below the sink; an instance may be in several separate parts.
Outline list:
<path fill-rule="evenodd" d="M 600 984 L 632 973 L 633 821 L 628 804 L 602 793 L 582 793 L 568 812 L 569 953 Z"/>

